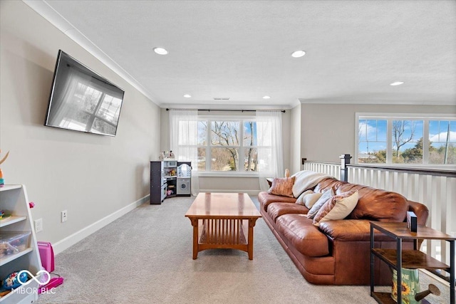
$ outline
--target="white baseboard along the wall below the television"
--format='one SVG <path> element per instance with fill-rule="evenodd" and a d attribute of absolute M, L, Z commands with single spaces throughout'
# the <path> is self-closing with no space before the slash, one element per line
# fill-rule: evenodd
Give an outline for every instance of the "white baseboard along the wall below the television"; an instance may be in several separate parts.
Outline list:
<path fill-rule="evenodd" d="M 133 203 L 129 204 L 128 206 L 125 206 L 122 209 L 119 209 L 118 211 L 115 211 L 112 214 L 109 214 L 108 216 L 103 217 L 103 219 L 95 221 L 95 223 L 90 224 L 89 226 L 81 229 L 80 231 L 75 232 L 74 234 L 71 234 L 71 236 L 67 236 L 65 239 L 62 239 L 61 241 L 53 243 L 52 246 L 53 246 L 54 254 L 57 255 L 58 253 L 61 253 L 66 248 L 73 246 L 74 244 L 78 243 L 78 241 L 82 241 L 86 237 L 90 236 L 90 234 L 93 234 L 95 231 L 102 229 L 104 226 L 106 226 L 106 225 L 110 224 L 111 222 L 115 221 L 116 219 L 120 218 L 120 216 L 128 214 L 128 212 L 132 211 L 133 209 L 137 208 L 141 204 L 144 204 L 145 201 L 149 200 L 149 197 L 150 197 L 150 194 L 147 194 L 146 196 L 142 197 L 141 199 L 138 199 L 138 201 L 134 201 Z"/>

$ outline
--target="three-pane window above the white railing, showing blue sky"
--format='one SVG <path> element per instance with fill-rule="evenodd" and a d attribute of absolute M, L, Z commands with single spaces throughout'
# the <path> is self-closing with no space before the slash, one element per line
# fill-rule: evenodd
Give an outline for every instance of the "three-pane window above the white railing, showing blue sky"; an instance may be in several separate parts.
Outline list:
<path fill-rule="evenodd" d="M 455 117 L 356 116 L 358 163 L 456 164 Z"/>

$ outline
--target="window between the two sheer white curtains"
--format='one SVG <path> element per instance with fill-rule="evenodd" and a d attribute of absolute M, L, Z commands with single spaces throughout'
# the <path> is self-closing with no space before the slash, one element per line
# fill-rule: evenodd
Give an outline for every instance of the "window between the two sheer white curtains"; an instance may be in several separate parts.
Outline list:
<path fill-rule="evenodd" d="M 199 172 L 257 172 L 254 118 L 201 118 L 198 122 Z"/>

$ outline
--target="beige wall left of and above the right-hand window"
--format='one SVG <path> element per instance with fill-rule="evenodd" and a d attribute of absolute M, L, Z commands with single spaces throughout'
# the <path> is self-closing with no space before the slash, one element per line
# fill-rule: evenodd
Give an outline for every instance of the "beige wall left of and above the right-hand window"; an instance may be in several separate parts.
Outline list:
<path fill-rule="evenodd" d="M 341 154 L 354 155 L 356 112 L 455 114 L 456 105 L 302 104 L 301 157 L 340 162 Z"/>

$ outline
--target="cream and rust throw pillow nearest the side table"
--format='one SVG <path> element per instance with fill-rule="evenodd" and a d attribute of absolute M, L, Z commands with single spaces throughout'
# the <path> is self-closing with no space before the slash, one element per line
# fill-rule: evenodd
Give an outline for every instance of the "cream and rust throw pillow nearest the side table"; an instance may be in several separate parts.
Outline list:
<path fill-rule="evenodd" d="M 358 204 L 358 190 L 343 192 L 326 201 L 314 217 L 314 225 L 322 221 L 345 219 Z"/>

